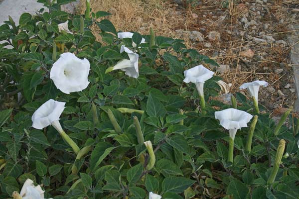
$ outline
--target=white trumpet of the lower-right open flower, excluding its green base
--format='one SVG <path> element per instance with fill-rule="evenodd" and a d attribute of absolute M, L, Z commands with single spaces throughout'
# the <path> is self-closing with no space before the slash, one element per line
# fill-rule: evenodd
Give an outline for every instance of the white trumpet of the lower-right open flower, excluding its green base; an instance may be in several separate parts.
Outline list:
<path fill-rule="evenodd" d="M 216 111 L 215 118 L 219 119 L 220 125 L 229 130 L 229 136 L 235 139 L 238 129 L 247 127 L 247 123 L 251 120 L 252 115 L 235 108 L 227 108 L 225 110 Z"/>

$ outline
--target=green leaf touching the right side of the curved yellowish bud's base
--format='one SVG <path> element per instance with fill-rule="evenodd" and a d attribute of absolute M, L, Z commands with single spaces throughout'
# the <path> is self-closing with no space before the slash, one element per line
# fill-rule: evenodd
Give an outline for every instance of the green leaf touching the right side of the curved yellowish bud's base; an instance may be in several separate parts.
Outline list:
<path fill-rule="evenodd" d="M 161 169 L 161 173 L 165 177 L 176 176 L 176 175 L 183 176 L 183 173 L 179 169 L 179 167 L 168 159 L 164 159 L 164 158 L 160 159 L 159 161 L 157 161 L 156 167 Z"/>

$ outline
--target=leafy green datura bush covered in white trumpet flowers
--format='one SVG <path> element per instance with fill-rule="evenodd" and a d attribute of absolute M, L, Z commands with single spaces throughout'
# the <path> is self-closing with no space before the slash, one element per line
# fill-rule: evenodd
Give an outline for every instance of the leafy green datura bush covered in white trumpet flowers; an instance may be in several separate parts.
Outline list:
<path fill-rule="evenodd" d="M 0 199 L 298 198 L 299 119 L 258 104 L 264 81 L 230 93 L 183 40 L 71 1 L 0 25 Z"/>

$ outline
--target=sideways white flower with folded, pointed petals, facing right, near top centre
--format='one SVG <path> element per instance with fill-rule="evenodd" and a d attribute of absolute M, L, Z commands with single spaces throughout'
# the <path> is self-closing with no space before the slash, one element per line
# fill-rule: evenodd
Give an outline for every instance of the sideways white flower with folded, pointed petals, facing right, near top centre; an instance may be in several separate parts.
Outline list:
<path fill-rule="evenodd" d="M 129 48 L 125 47 L 125 45 L 122 45 L 121 47 L 121 53 L 126 52 L 128 53 L 129 59 L 123 59 L 119 61 L 115 66 L 110 67 L 106 70 L 106 73 L 109 73 L 110 71 L 119 70 L 125 71 L 126 75 L 132 78 L 138 78 L 139 76 L 139 70 L 138 70 L 138 57 L 139 55 L 137 53 L 134 53 Z"/>

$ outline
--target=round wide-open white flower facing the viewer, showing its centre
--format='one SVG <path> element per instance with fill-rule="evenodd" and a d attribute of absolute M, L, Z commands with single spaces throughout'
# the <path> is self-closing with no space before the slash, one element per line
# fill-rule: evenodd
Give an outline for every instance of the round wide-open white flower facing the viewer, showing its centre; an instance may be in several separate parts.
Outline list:
<path fill-rule="evenodd" d="M 82 91 L 89 85 L 90 63 L 87 59 L 79 59 L 73 53 L 63 53 L 53 64 L 50 78 L 57 89 L 65 94 Z"/>

